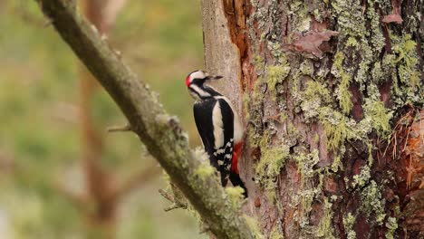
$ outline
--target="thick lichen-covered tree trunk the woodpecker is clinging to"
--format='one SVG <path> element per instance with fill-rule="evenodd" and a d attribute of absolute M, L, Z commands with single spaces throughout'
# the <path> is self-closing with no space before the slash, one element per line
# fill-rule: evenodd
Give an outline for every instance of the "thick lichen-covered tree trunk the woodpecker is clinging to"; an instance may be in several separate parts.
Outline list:
<path fill-rule="evenodd" d="M 266 238 L 424 236 L 424 4 L 202 1 Z M 420 14 L 419 14 L 420 13 Z"/>

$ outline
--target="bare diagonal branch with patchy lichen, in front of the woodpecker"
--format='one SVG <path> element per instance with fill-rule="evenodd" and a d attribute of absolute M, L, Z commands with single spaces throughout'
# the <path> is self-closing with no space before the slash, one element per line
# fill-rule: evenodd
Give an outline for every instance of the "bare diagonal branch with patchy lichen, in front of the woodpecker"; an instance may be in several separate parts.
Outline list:
<path fill-rule="evenodd" d="M 132 130 L 187 196 L 217 238 L 254 238 L 215 177 L 196 173 L 200 161 L 188 148 L 186 133 L 162 109 L 149 87 L 120 61 L 94 26 L 76 13 L 76 1 L 35 0 L 63 40 L 111 95 Z"/>

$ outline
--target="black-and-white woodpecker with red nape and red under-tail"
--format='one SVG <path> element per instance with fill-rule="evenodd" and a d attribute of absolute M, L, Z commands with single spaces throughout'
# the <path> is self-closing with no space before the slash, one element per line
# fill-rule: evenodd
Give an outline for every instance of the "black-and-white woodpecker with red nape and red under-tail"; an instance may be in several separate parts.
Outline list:
<path fill-rule="evenodd" d="M 207 80 L 221 79 L 207 72 L 195 71 L 188 74 L 186 85 L 190 95 L 196 100 L 193 111 L 198 133 L 203 141 L 210 164 L 221 175 L 221 184 L 229 180 L 233 186 L 247 189 L 238 172 L 237 161 L 243 146 L 243 127 L 231 102 L 210 86 Z"/>

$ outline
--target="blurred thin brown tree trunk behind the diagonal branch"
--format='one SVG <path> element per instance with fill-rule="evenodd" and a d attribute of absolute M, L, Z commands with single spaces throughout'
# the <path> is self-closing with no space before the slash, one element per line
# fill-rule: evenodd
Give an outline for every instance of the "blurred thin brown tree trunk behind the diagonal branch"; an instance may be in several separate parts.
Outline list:
<path fill-rule="evenodd" d="M 84 14 L 101 34 L 108 33 L 109 26 L 103 14 L 110 1 L 82 1 Z M 82 162 L 87 185 L 87 195 L 90 196 L 93 209 L 84 212 L 88 219 L 88 238 L 115 238 L 116 212 L 118 203 L 111 196 L 113 177 L 103 166 L 104 148 L 101 127 L 96 126 L 92 118 L 93 98 L 101 90 L 98 82 L 86 67 L 80 64 L 80 117 L 82 128 Z"/>

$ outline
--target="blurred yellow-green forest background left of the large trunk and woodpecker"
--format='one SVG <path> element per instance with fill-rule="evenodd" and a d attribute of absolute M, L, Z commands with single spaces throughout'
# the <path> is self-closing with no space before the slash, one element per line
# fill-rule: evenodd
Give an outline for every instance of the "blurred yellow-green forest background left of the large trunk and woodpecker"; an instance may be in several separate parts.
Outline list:
<path fill-rule="evenodd" d="M 0 1 L 0 238 L 103 238 L 90 219 L 93 199 L 77 200 L 89 192 L 82 160 L 87 146 L 80 119 L 81 65 L 34 2 Z M 126 1 L 108 35 L 123 61 L 178 116 L 191 145 L 198 145 L 184 79 L 203 68 L 200 2 Z M 126 121 L 102 89 L 90 107 L 101 132 L 100 165 L 112 176 L 111 186 L 159 167 L 131 133 L 104 133 Z M 164 212 L 170 203 L 158 189 L 168 183 L 158 171 L 113 202 L 114 237 L 206 238 L 188 212 Z"/>

